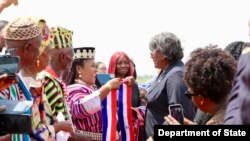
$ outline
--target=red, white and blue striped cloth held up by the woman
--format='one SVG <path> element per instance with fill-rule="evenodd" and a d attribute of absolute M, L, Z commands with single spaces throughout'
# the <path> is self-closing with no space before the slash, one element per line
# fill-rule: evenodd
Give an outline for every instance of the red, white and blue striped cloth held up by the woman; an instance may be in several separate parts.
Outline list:
<path fill-rule="evenodd" d="M 118 97 L 117 96 L 118 93 Z M 115 141 L 116 133 L 116 113 L 118 112 L 118 122 L 121 129 L 121 141 L 134 141 L 135 134 L 132 124 L 132 102 L 130 100 L 132 87 L 125 84 L 120 85 L 119 90 L 111 91 L 111 94 L 103 100 L 103 141 Z M 129 99 L 129 100 L 128 100 Z M 118 111 L 117 103 L 118 100 Z"/>

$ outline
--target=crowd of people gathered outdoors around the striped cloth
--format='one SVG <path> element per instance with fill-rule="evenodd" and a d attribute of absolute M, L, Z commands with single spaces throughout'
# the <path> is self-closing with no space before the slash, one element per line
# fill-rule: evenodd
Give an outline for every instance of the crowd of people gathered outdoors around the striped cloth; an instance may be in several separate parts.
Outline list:
<path fill-rule="evenodd" d="M 74 47 L 73 31 L 43 18 L 1 20 L 0 30 L 1 55 L 19 57 L 15 77 L 0 72 L 0 99 L 33 103 L 31 132 L 1 133 L 1 141 L 53 141 L 60 132 L 69 141 L 150 141 L 154 125 L 250 124 L 249 43 L 204 45 L 183 63 L 180 39 L 159 33 L 149 41 L 159 73 L 144 87 L 129 54 L 114 52 L 106 67 L 95 62 L 95 47 Z M 97 88 L 97 74 L 113 78 Z M 183 123 L 170 115 L 172 104 L 182 105 Z"/>

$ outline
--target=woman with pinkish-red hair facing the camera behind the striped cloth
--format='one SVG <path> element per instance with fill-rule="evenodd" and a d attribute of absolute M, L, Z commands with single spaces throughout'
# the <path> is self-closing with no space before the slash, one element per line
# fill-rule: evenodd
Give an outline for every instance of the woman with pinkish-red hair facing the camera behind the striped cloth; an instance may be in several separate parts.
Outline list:
<path fill-rule="evenodd" d="M 108 73 L 114 74 L 115 78 L 120 78 L 123 81 L 136 79 L 135 65 L 125 52 L 113 53 L 113 55 L 110 58 Z M 136 140 L 140 141 L 143 140 L 142 127 L 144 125 L 145 108 L 139 107 L 141 106 L 141 103 L 140 103 L 139 88 L 137 83 L 131 83 L 131 84 L 132 84 L 131 110 L 133 115 L 132 125 L 133 125 L 134 136 Z"/>

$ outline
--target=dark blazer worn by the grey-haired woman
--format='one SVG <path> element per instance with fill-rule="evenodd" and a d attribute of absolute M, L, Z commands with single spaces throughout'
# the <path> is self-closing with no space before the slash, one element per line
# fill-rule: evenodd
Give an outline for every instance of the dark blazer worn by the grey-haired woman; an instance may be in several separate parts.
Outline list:
<path fill-rule="evenodd" d="M 182 79 L 183 70 L 183 62 L 172 64 L 160 72 L 149 88 L 146 96 L 148 104 L 145 115 L 145 139 L 153 136 L 154 125 L 163 124 L 164 116 L 169 114 L 168 106 L 170 104 L 181 104 L 185 117 L 193 120 L 196 108 L 192 101 L 185 96 L 187 87 Z"/>

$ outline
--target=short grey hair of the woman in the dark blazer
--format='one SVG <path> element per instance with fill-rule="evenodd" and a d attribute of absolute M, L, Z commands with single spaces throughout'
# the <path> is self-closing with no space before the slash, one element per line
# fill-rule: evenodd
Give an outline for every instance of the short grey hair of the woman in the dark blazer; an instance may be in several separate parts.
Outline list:
<path fill-rule="evenodd" d="M 154 51 L 159 49 L 170 63 L 174 63 L 183 58 L 183 49 L 177 36 L 171 32 L 162 32 L 155 35 L 149 44 L 149 49 Z"/>

